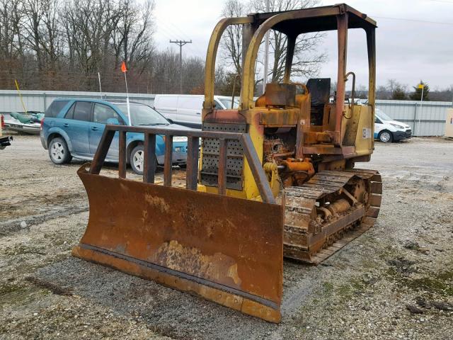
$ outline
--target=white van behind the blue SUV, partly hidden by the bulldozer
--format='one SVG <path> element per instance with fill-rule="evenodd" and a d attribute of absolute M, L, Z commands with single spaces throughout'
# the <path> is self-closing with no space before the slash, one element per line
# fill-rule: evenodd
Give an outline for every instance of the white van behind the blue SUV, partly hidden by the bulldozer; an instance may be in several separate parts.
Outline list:
<path fill-rule="evenodd" d="M 190 94 L 157 94 L 154 109 L 165 118 L 190 128 L 201 128 L 201 111 L 205 96 Z M 231 108 L 231 97 L 214 96 L 214 104 L 219 109 Z M 238 108 L 239 101 L 234 99 L 233 108 Z"/>

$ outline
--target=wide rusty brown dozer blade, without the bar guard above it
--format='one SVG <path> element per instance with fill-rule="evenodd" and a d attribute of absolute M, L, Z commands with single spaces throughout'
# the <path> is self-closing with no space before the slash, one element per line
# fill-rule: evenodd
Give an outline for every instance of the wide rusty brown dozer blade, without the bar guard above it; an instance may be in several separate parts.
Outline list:
<path fill-rule="evenodd" d="M 78 174 L 90 215 L 74 256 L 280 322 L 282 205 Z"/>

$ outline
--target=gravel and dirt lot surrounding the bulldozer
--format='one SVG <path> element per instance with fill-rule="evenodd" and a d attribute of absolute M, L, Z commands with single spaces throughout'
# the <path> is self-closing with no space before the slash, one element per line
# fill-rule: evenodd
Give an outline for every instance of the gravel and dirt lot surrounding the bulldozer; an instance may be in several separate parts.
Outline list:
<path fill-rule="evenodd" d="M 357 164 L 383 175 L 379 219 L 321 266 L 285 261 L 278 325 L 72 257 L 81 164 L 55 166 L 39 137 L 0 150 L 0 339 L 453 337 L 451 140 L 377 143 Z"/>

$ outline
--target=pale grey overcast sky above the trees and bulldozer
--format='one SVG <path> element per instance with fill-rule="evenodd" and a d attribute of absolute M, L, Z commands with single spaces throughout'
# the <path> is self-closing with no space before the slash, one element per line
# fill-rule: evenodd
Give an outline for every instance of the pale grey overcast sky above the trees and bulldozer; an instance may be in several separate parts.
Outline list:
<path fill-rule="evenodd" d="M 323 5 L 338 4 L 323 0 Z M 161 50 L 176 49 L 169 40 L 192 40 L 183 56 L 205 58 L 212 29 L 224 0 L 156 0 L 154 39 Z M 453 85 L 453 0 L 350 0 L 348 4 L 377 21 L 377 84 L 396 79 L 413 86 L 423 79 L 432 89 Z M 405 19 L 405 20 L 397 20 Z M 366 40 L 350 30 L 348 71 L 367 82 Z M 320 51 L 328 53 L 321 77 L 336 73 L 336 37 L 328 33 Z"/>

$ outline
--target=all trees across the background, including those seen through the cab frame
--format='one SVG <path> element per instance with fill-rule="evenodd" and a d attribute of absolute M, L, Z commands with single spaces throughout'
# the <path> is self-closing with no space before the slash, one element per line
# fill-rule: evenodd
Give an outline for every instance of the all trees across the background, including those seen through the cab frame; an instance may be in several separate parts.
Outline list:
<path fill-rule="evenodd" d="M 268 0 L 269 11 L 319 5 L 319 0 Z M 222 16 L 246 16 L 267 11 L 266 0 L 225 0 Z M 153 12 L 154 0 L 0 0 L 0 89 L 124 92 L 120 64 L 125 61 L 130 92 L 175 94 L 183 74 L 183 93 L 204 92 L 205 60 L 184 57 L 173 49 L 159 50 Z M 241 26 L 229 27 L 217 58 L 217 94 L 236 95 L 241 89 Z M 293 80 L 316 77 L 327 60 L 319 52 L 323 33 L 300 35 L 294 52 Z M 268 81 L 282 81 L 286 37 L 270 31 Z M 256 93 L 263 82 L 263 48 L 256 64 Z M 239 76 L 238 76 L 239 75 Z M 335 84 L 333 84 L 335 89 Z M 356 97 L 365 98 L 365 86 Z M 377 87 L 377 98 L 420 100 L 421 90 L 394 79 Z M 432 89 L 425 84 L 424 100 L 452 101 L 453 86 Z"/>

